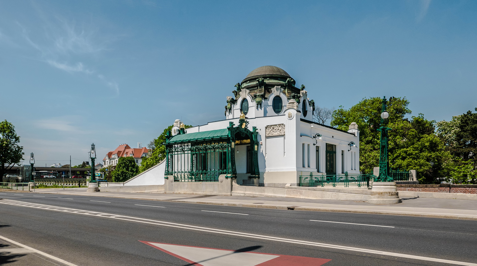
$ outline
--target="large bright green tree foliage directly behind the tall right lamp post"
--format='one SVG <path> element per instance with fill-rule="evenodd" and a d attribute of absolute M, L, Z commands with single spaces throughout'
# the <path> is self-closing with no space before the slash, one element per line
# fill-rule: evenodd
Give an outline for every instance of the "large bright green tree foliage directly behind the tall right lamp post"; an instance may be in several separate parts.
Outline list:
<path fill-rule="evenodd" d="M 370 173 L 379 166 L 381 122 L 381 98 L 364 98 L 361 102 L 344 109 L 340 106 L 333 113 L 332 126 L 348 130 L 352 122 L 360 130 L 360 170 Z M 445 145 L 434 133 L 435 121 L 428 121 L 423 114 L 405 118 L 411 110 L 409 101 L 391 97 L 388 102 L 389 113 L 389 162 L 390 167 L 402 170 L 416 170 L 422 184 L 434 184 L 443 178 L 443 164 L 449 158 Z"/>

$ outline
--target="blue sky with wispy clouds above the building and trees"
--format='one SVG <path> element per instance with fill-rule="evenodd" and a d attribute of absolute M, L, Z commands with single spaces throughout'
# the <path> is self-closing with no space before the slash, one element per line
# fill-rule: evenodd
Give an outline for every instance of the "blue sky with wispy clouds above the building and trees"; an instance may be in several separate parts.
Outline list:
<path fill-rule="evenodd" d="M 38 165 L 145 146 L 175 119 L 224 118 L 275 65 L 321 107 L 407 97 L 412 115 L 477 107 L 476 1 L 1 1 L 0 120 Z M 28 156 L 25 155 L 28 160 Z"/>

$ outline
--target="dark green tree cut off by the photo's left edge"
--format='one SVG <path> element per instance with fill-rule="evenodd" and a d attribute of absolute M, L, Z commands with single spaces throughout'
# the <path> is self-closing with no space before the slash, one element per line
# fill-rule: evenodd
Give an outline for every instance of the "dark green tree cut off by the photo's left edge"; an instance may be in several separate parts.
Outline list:
<path fill-rule="evenodd" d="M 15 132 L 15 126 L 7 120 L 0 122 L 0 182 L 8 167 L 20 163 L 23 159 L 23 147 L 18 145 L 20 137 Z M 6 164 L 6 165 L 5 165 Z"/>

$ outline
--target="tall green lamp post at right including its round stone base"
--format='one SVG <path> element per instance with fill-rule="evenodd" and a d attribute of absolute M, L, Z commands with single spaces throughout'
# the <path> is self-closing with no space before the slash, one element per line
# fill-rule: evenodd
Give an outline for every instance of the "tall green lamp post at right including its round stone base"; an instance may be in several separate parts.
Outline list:
<path fill-rule="evenodd" d="M 373 188 L 371 189 L 371 197 L 368 199 L 369 204 L 396 204 L 401 203 L 399 198 L 396 182 L 389 176 L 388 161 L 388 137 L 387 132 L 391 130 L 387 127 L 389 113 L 386 111 L 387 100 L 383 97 L 381 108 L 381 123 L 378 131 L 381 132 L 381 149 L 379 154 L 379 175 L 374 178 Z"/>

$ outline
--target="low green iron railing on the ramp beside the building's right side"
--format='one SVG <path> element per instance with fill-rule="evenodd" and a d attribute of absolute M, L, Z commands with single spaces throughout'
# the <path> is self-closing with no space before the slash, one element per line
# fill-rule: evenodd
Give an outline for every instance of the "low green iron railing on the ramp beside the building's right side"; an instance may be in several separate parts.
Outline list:
<path fill-rule="evenodd" d="M 373 180 L 372 174 L 334 174 L 334 175 L 300 175 L 300 186 L 344 186 L 356 185 L 358 187 L 370 187 L 369 181 Z"/>

